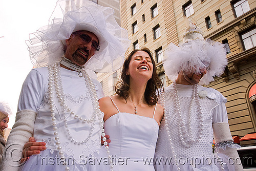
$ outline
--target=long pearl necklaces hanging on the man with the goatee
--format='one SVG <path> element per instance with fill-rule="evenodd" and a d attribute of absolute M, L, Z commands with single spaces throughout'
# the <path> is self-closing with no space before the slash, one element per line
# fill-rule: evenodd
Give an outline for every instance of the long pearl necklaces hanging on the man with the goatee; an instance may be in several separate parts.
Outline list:
<path fill-rule="evenodd" d="M 96 123 L 96 118 L 98 116 L 101 132 L 102 132 L 101 136 L 103 137 L 102 140 L 104 141 L 106 153 L 110 154 L 109 146 L 106 146 L 106 145 L 108 145 L 108 142 L 106 142 L 105 133 L 104 133 L 104 129 L 103 129 L 103 115 L 99 109 L 99 102 L 98 102 L 98 97 L 97 97 L 97 93 L 96 93 L 94 84 L 93 84 L 91 78 L 89 77 L 89 75 L 84 70 L 82 70 L 81 72 L 82 72 L 82 76 L 85 79 L 86 87 L 88 88 L 88 90 L 90 92 L 90 99 L 92 100 L 92 104 L 93 104 L 93 115 L 91 116 L 91 118 L 79 117 L 79 115 L 75 114 L 75 112 L 72 111 L 71 108 L 69 108 L 68 105 L 66 104 L 65 94 L 63 92 L 63 87 L 62 87 L 59 62 L 54 63 L 53 66 L 48 66 L 48 73 L 49 73 L 48 93 L 49 93 L 50 111 L 51 111 L 51 116 L 52 116 L 52 121 L 53 121 L 52 122 L 53 131 L 54 131 L 53 134 L 55 136 L 56 145 L 58 146 L 57 150 L 59 151 L 59 155 L 61 158 L 65 158 L 65 156 L 62 151 L 61 143 L 59 141 L 58 127 L 56 126 L 57 122 L 55 121 L 56 118 L 55 118 L 55 113 L 54 113 L 53 95 L 56 95 L 58 97 L 58 100 L 62 106 L 62 114 L 64 115 L 63 122 L 65 123 L 67 136 L 69 137 L 70 141 L 77 145 L 86 143 L 91 138 L 91 136 L 93 134 L 93 130 L 94 130 L 95 123 Z M 83 124 L 85 124 L 85 123 L 91 124 L 90 133 L 86 139 L 84 139 L 82 141 L 78 141 L 73 138 L 73 136 L 71 135 L 70 130 L 68 128 L 69 127 L 69 125 L 67 123 L 68 115 L 71 115 L 72 117 L 74 117 L 74 119 L 77 119 L 78 121 L 80 121 Z M 108 157 L 109 157 L 109 159 L 111 158 L 110 155 Z M 66 165 L 66 170 L 70 170 L 70 168 L 69 168 L 69 166 L 67 166 L 66 162 L 65 162 L 65 165 Z M 110 160 L 110 167 L 113 168 L 113 164 L 111 163 L 111 160 Z"/>

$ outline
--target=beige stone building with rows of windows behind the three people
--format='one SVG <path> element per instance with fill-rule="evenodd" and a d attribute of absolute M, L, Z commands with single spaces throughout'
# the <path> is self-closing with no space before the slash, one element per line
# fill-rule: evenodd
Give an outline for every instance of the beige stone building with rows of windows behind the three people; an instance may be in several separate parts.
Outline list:
<path fill-rule="evenodd" d="M 195 19 L 204 38 L 228 44 L 226 70 L 207 87 L 220 91 L 227 98 L 233 136 L 241 138 L 256 131 L 256 1 L 120 0 L 120 11 L 121 27 L 128 31 L 131 40 L 125 55 L 133 49 L 149 48 L 165 86 L 172 80 L 165 76 L 162 60 L 170 42 L 182 43 L 187 24 L 185 17 Z M 120 70 L 97 75 L 105 95 L 114 94 L 113 84 L 119 79 Z"/>

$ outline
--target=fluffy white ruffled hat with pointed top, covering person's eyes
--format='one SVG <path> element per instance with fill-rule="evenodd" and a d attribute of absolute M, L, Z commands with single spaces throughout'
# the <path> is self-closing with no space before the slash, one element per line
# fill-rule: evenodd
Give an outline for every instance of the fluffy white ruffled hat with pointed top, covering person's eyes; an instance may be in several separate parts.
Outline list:
<path fill-rule="evenodd" d="M 200 73 L 207 68 L 207 73 L 199 84 L 209 84 L 214 76 L 221 76 L 227 65 L 225 45 L 210 39 L 204 39 L 200 28 L 191 20 L 184 33 L 183 44 L 170 44 L 163 62 L 165 74 L 175 80 L 179 72 Z"/>

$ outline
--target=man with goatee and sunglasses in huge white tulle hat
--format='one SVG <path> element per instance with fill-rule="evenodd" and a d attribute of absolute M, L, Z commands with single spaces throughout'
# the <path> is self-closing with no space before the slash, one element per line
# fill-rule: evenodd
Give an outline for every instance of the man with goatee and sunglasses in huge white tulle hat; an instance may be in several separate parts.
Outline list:
<path fill-rule="evenodd" d="M 30 34 L 30 57 L 39 68 L 23 84 L 1 169 L 93 169 L 87 160 L 101 148 L 98 99 L 104 95 L 92 76 L 117 70 L 130 45 L 113 13 L 90 1 L 59 0 L 49 25 Z M 14 155 L 13 149 L 21 152 L 31 136 L 47 149 L 20 163 L 22 153 Z"/>

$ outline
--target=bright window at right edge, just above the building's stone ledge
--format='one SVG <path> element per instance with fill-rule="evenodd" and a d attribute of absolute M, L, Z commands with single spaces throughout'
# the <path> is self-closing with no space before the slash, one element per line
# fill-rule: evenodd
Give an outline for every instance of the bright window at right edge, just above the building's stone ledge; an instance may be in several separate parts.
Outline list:
<path fill-rule="evenodd" d="M 242 34 L 245 50 L 256 46 L 256 28 Z"/>

